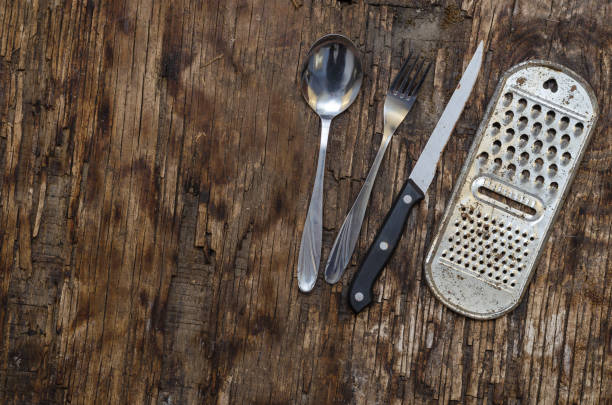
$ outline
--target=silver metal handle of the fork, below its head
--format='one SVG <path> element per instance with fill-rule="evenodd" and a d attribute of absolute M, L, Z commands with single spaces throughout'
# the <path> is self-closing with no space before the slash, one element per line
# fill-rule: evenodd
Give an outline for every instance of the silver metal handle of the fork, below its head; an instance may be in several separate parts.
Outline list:
<path fill-rule="evenodd" d="M 359 195 L 353 203 L 351 210 L 344 219 L 338 236 L 336 236 L 329 258 L 327 259 L 327 265 L 325 266 L 325 281 L 330 284 L 335 284 L 340 280 L 346 266 L 351 260 L 351 256 L 357 245 L 357 240 L 359 239 L 359 233 L 361 232 L 363 217 L 365 216 L 365 211 L 370 201 L 372 186 L 374 185 L 380 162 L 385 155 L 390 139 L 390 136 L 383 137 L 383 141 L 376 153 L 376 158 L 374 159 L 374 164 L 370 168 L 368 177 L 361 187 L 361 191 L 359 191 Z"/>

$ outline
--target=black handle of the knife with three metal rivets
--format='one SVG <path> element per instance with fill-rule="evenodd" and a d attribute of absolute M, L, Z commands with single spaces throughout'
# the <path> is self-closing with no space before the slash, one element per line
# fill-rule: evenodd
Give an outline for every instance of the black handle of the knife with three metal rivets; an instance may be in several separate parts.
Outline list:
<path fill-rule="evenodd" d="M 372 287 L 382 269 L 393 255 L 410 210 L 425 195 L 410 179 L 406 181 L 402 192 L 393 202 L 391 211 L 382 228 L 378 231 L 374 243 L 368 249 L 365 259 L 353 277 L 349 288 L 349 304 L 355 313 L 361 312 L 372 302 Z"/>

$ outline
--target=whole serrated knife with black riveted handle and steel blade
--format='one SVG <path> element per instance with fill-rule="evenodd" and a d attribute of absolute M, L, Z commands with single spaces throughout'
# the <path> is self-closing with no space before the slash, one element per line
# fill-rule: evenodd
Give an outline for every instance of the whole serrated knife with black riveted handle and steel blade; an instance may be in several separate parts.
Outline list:
<path fill-rule="evenodd" d="M 408 214 L 412 207 L 425 197 L 425 193 L 436 173 L 436 166 L 448 142 L 455 124 L 463 111 L 480 66 L 482 65 L 483 43 L 480 41 L 472 60 L 465 69 L 457 89 L 451 96 L 440 120 L 436 124 L 419 160 L 417 160 L 412 172 L 402 191 L 393 202 L 391 211 L 378 231 L 374 243 L 368 249 L 365 259 L 353 277 L 349 288 L 349 304 L 355 313 L 361 312 L 372 302 L 372 287 L 374 282 L 385 267 L 393 250 L 399 242 Z"/>

